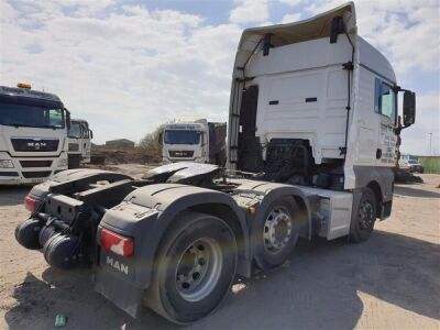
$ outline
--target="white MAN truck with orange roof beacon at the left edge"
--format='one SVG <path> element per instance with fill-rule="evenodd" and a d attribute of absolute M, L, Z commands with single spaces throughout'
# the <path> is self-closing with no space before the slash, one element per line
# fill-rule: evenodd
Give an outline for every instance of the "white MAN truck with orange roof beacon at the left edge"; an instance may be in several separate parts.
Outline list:
<path fill-rule="evenodd" d="M 67 169 L 68 125 L 57 96 L 0 86 L 0 185 L 37 184 Z"/>

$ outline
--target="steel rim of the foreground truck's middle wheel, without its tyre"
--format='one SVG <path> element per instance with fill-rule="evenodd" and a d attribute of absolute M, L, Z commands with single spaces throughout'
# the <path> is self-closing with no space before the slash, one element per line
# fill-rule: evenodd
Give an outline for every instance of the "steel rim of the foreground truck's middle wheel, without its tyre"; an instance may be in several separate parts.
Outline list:
<path fill-rule="evenodd" d="M 274 208 L 264 222 L 264 249 L 273 254 L 283 251 L 290 241 L 293 233 L 292 218 L 284 207 Z"/>

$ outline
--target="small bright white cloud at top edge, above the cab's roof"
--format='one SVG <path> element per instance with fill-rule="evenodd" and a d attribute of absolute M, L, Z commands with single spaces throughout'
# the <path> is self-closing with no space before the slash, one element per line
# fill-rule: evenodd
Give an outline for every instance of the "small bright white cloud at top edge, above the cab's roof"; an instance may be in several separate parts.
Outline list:
<path fill-rule="evenodd" d="M 232 23 L 262 23 L 270 19 L 267 0 L 235 0 L 235 3 L 229 14 Z"/>

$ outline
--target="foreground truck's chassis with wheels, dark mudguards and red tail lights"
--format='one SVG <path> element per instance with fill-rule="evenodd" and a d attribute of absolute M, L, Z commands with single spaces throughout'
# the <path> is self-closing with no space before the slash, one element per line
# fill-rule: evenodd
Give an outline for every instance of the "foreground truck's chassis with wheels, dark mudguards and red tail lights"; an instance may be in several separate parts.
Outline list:
<path fill-rule="evenodd" d="M 185 324 L 212 312 L 235 274 L 283 264 L 299 237 L 360 242 L 373 230 L 378 206 L 369 188 L 255 177 L 196 163 L 164 165 L 140 180 L 65 170 L 26 196 L 32 215 L 15 238 L 54 267 L 91 266 L 96 290 L 131 316 L 146 305 Z"/>

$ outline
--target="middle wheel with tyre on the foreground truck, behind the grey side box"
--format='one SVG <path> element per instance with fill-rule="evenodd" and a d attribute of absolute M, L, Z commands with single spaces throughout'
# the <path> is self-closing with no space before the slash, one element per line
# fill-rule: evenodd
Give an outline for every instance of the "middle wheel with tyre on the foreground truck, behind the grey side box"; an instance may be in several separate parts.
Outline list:
<path fill-rule="evenodd" d="M 271 202 L 254 232 L 255 261 L 268 271 L 285 263 L 298 241 L 299 208 L 292 197 Z"/>

